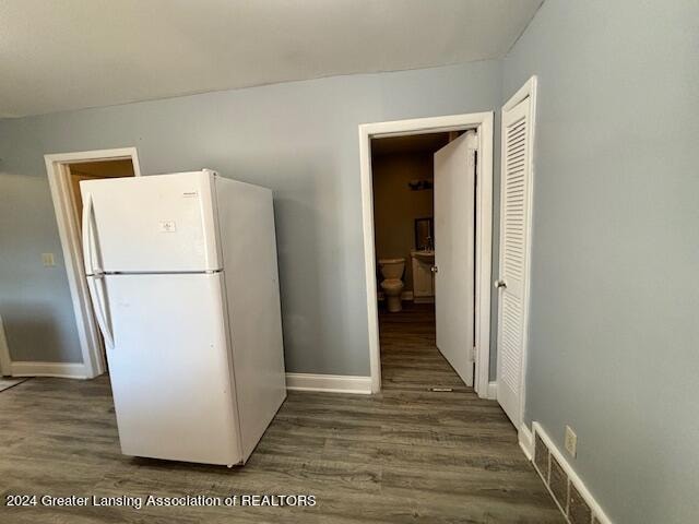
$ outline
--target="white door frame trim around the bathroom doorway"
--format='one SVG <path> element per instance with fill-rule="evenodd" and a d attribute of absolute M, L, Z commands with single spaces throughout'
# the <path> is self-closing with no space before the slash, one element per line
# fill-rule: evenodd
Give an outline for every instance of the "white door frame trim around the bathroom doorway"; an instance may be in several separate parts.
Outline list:
<path fill-rule="evenodd" d="M 406 136 L 475 129 L 478 133 L 476 184 L 476 372 L 474 389 L 488 397 L 490 367 L 490 272 L 493 263 L 493 111 L 443 117 L 416 118 L 359 126 L 359 174 L 362 182 L 362 230 L 364 237 L 365 286 L 367 294 L 367 331 L 371 392 L 381 391 L 381 352 L 374 245 L 374 183 L 371 176 L 371 139 Z"/>

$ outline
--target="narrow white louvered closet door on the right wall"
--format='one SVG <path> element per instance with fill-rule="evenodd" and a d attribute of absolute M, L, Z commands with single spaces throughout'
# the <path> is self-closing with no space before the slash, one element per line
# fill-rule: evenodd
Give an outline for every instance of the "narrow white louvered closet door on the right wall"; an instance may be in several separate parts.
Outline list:
<path fill-rule="evenodd" d="M 523 354 L 531 183 L 530 99 L 502 110 L 498 402 L 512 424 L 522 424 Z"/>

